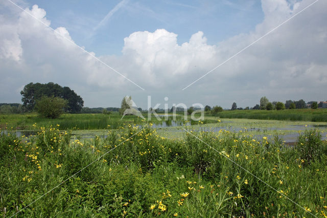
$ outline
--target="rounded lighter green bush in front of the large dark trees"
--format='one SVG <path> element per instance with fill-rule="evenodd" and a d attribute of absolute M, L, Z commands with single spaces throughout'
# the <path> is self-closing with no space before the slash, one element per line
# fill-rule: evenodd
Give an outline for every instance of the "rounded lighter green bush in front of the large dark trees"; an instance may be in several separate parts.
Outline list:
<path fill-rule="evenodd" d="M 59 97 L 42 96 L 35 103 L 37 113 L 51 119 L 60 117 L 66 106 L 67 100 Z"/>

